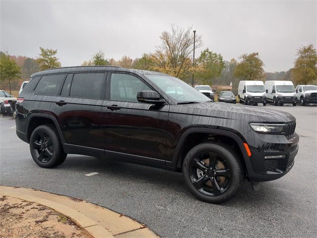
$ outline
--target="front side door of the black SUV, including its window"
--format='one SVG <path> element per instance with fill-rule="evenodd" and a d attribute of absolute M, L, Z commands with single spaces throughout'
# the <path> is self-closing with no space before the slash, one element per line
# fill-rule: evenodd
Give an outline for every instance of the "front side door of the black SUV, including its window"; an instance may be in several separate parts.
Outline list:
<path fill-rule="evenodd" d="M 112 72 L 108 87 L 105 153 L 164 164 L 169 105 L 138 102 L 138 91 L 152 89 L 133 74 Z"/>

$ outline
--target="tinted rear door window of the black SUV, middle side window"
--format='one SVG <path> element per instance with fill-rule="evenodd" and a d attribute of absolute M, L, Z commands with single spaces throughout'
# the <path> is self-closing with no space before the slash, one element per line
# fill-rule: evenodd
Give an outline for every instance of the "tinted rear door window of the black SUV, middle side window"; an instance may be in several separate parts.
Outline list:
<path fill-rule="evenodd" d="M 104 73 L 75 73 L 70 88 L 70 97 L 103 99 Z"/>

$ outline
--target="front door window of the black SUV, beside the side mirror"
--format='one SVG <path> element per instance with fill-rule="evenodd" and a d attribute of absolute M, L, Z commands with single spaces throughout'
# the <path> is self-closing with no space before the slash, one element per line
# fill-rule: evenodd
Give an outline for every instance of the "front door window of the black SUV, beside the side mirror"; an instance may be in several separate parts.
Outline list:
<path fill-rule="evenodd" d="M 110 100 L 138 102 L 137 93 L 152 90 L 135 76 L 125 73 L 112 73 L 110 82 Z"/>

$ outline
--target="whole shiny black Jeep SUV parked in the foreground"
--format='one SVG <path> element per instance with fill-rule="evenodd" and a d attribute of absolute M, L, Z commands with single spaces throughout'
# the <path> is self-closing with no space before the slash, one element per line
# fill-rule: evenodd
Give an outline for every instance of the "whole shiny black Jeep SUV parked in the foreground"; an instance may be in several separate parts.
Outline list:
<path fill-rule="evenodd" d="M 180 88 L 177 94 L 170 88 Z M 199 199 L 230 199 L 242 181 L 284 176 L 294 164 L 295 118 L 210 102 L 175 77 L 114 66 L 35 73 L 16 103 L 16 133 L 35 163 L 67 154 L 113 158 L 183 172 Z"/>

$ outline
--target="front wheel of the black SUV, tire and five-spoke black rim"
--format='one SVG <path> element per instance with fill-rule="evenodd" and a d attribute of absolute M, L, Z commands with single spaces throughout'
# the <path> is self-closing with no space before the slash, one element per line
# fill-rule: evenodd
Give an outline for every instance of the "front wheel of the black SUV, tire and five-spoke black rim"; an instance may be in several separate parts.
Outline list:
<path fill-rule="evenodd" d="M 216 175 L 220 172 L 224 176 Z M 184 159 L 183 174 L 188 189 L 200 200 L 210 203 L 232 198 L 244 179 L 238 156 L 220 143 L 193 147 Z"/>

